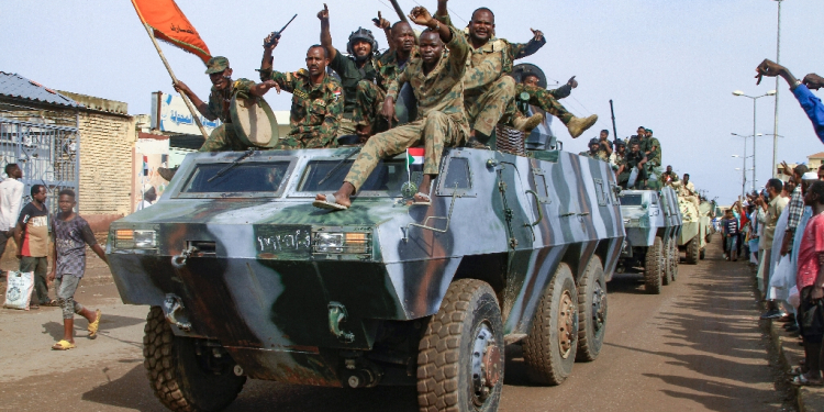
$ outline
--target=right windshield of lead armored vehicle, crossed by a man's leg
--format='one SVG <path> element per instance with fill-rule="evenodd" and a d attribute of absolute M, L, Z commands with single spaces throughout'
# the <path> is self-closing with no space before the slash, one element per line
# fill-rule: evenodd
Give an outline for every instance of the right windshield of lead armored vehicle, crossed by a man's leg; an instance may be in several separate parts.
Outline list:
<path fill-rule="evenodd" d="M 339 167 L 341 160 L 312 160 L 303 171 L 298 186 L 300 192 L 334 192 L 343 185 L 346 174 L 354 160 L 346 160 Z M 337 167 L 335 169 L 335 167 Z M 331 172 L 331 174 L 330 174 Z M 390 194 L 400 193 L 401 186 L 409 181 L 407 165 L 403 159 L 381 160 L 375 171 L 360 187 L 360 192 L 382 191 Z"/>

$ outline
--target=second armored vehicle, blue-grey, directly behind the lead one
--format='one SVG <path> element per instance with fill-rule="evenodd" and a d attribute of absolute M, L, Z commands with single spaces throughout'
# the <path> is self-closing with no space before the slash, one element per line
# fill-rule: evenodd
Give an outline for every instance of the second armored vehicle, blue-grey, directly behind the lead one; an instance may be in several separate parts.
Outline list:
<path fill-rule="evenodd" d="M 644 271 L 648 293 L 660 293 L 678 276 L 678 238 L 681 213 L 678 196 L 670 187 L 658 190 L 623 190 L 619 194 L 626 241 L 616 271 Z"/>

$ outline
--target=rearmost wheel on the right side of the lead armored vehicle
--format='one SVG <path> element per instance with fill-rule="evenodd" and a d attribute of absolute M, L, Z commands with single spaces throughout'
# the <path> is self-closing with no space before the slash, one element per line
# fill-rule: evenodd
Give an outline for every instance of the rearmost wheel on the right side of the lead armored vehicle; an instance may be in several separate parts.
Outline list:
<path fill-rule="evenodd" d="M 593 255 L 578 282 L 578 353 L 577 361 L 598 358 L 606 331 L 606 279 L 603 265 Z"/>

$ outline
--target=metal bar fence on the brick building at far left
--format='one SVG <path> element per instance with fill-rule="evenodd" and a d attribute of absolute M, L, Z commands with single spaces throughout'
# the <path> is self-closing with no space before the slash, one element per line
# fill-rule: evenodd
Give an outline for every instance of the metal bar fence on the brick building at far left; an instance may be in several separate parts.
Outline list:
<path fill-rule="evenodd" d="M 43 111 L 0 111 L 0 170 L 7 164 L 16 163 L 23 171 L 25 183 L 23 204 L 29 203 L 31 188 L 44 185 L 48 193 L 46 205 L 56 213 L 57 193 L 63 189 L 78 192 L 80 180 L 80 133 L 76 111 L 59 113 L 49 119 Z M 68 114 L 68 115 L 67 115 Z M 71 125 L 74 118 L 74 125 Z M 23 120 L 24 119 L 24 120 Z"/>

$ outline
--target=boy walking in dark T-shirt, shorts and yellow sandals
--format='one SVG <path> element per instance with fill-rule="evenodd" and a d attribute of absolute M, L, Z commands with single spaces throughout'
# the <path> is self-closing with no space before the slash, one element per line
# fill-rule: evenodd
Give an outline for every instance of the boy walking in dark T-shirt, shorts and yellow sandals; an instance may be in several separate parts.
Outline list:
<path fill-rule="evenodd" d="M 75 213 L 76 204 L 75 192 L 70 189 L 62 190 L 57 203 L 60 212 L 52 220 L 55 261 L 48 280 L 54 281 L 57 302 L 63 309 L 63 339 L 52 346 L 55 350 L 75 347 L 75 313 L 89 321 L 90 339 L 97 337 L 100 326 L 100 310 L 92 312 L 76 302 L 75 291 L 86 271 L 87 244 L 103 261 L 109 261 L 89 223 Z"/>

